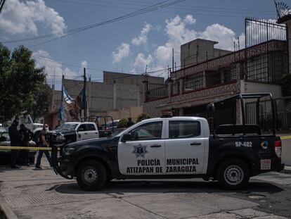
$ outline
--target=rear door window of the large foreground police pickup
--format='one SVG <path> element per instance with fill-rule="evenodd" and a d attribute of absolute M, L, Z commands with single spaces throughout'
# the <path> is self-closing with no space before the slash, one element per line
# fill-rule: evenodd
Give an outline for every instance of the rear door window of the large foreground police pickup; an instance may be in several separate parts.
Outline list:
<path fill-rule="evenodd" d="M 200 135 L 198 121 L 169 121 L 169 138 L 183 139 Z"/>

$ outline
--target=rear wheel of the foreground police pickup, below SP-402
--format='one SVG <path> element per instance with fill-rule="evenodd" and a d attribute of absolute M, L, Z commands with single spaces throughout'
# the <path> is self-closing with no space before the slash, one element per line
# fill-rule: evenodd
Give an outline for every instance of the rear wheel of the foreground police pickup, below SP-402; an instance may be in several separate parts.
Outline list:
<path fill-rule="evenodd" d="M 224 189 L 241 189 L 250 180 L 250 169 L 240 159 L 228 159 L 219 165 L 216 177 Z"/>

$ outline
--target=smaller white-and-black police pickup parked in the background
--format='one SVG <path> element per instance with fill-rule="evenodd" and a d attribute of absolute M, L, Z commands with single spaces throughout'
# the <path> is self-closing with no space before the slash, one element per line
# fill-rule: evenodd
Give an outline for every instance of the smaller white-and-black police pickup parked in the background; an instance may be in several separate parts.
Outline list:
<path fill-rule="evenodd" d="M 99 137 L 96 123 L 89 122 L 63 123 L 57 130 L 48 131 L 46 134 L 50 144 L 55 146 Z"/>

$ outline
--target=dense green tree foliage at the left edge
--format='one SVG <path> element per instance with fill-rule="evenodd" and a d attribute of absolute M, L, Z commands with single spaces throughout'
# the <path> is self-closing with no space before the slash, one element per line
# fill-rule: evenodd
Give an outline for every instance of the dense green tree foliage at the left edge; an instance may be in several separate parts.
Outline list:
<path fill-rule="evenodd" d="M 46 86 L 46 74 L 44 68 L 36 68 L 32 51 L 18 46 L 11 53 L 0 43 L 0 115 L 4 120 L 23 111 L 31 113 L 39 104 L 43 86 Z"/>

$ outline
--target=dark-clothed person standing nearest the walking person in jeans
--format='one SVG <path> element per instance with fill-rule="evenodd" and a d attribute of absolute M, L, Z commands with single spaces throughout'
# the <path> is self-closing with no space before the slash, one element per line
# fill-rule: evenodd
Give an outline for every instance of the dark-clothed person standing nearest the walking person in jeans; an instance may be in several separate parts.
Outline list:
<path fill-rule="evenodd" d="M 33 133 L 30 131 L 30 129 L 25 127 L 23 123 L 20 125 L 19 132 L 22 136 L 21 146 L 29 146 L 29 142 Z M 20 150 L 20 157 L 22 159 L 22 165 L 30 165 L 30 154 L 28 150 Z"/>

